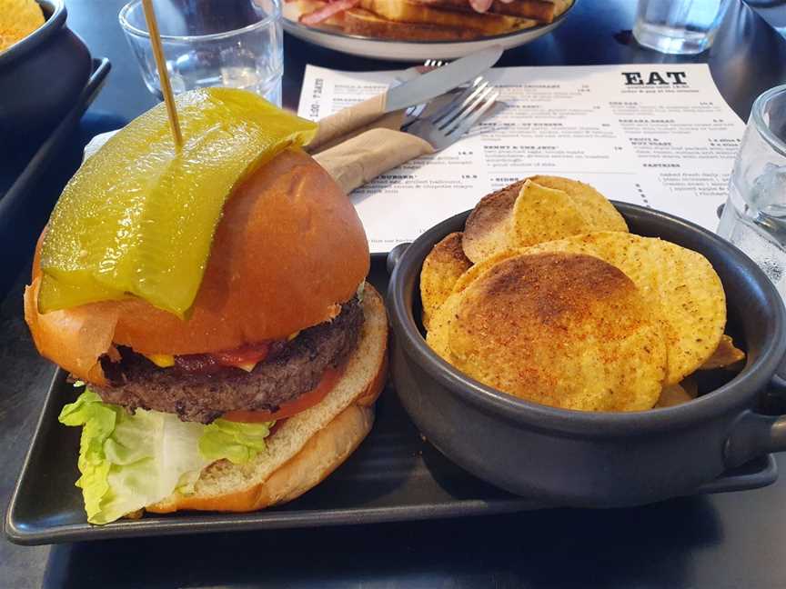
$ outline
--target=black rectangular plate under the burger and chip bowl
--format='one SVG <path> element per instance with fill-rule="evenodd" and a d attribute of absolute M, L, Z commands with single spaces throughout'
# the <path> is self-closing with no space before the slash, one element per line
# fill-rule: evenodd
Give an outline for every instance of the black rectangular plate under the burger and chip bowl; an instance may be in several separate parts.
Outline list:
<path fill-rule="evenodd" d="M 369 280 L 385 293 L 384 255 L 372 256 Z M 57 423 L 60 409 L 74 397 L 74 388 L 58 370 L 5 517 L 5 534 L 16 544 L 375 524 L 553 506 L 501 491 L 450 463 L 418 434 L 388 385 L 378 401 L 377 423 L 358 451 L 326 481 L 289 504 L 251 514 L 146 515 L 94 526 L 87 524 L 82 496 L 74 486 L 79 476 L 79 430 Z M 777 476 L 773 457 L 762 456 L 701 486 L 695 494 L 758 488 Z"/>

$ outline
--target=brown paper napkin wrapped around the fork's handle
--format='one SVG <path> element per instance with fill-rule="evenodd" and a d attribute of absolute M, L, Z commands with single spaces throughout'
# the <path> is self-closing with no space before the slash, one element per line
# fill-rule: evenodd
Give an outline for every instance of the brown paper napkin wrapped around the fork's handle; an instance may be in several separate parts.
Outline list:
<path fill-rule="evenodd" d="M 349 194 L 378 175 L 433 152 L 434 148 L 420 137 L 377 128 L 326 149 L 314 159 Z"/>

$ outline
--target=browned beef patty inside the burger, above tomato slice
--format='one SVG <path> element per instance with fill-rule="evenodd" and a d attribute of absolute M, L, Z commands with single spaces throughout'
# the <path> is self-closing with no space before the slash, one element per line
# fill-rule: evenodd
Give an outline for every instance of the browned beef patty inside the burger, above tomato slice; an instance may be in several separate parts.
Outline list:
<path fill-rule="evenodd" d="M 363 309 L 353 298 L 331 321 L 301 331 L 292 341 L 274 343 L 251 372 L 230 366 L 207 373 L 159 368 L 120 347 L 119 362 L 101 359 L 111 385 L 91 388 L 106 403 L 174 413 L 203 424 L 228 411 L 276 411 L 315 388 L 329 367 L 342 364 L 358 344 L 362 325 Z"/>

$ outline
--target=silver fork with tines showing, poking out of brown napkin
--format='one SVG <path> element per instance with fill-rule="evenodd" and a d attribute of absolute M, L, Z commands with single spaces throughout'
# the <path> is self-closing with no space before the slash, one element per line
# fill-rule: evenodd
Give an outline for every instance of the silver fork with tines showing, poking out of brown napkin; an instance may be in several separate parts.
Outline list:
<path fill-rule="evenodd" d="M 402 126 L 401 130 L 425 139 L 439 151 L 459 141 L 498 98 L 499 89 L 479 75 L 438 112 L 418 118 Z"/>

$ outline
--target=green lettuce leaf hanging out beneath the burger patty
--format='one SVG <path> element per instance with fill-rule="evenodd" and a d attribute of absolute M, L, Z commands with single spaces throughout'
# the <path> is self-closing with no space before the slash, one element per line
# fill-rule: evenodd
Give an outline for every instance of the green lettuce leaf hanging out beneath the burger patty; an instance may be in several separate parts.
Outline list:
<path fill-rule="evenodd" d="M 65 405 L 59 421 L 82 426 L 76 486 L 91 524 L 114 522 L 174 491 L 193 493 L 207 464 L 221 458 L 240 464 L 264 451 L 270 425 L 196 424 L 143 409 L 129 414 L 89 388 Z"/>

